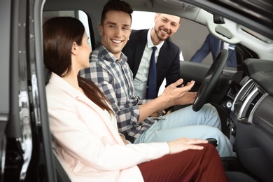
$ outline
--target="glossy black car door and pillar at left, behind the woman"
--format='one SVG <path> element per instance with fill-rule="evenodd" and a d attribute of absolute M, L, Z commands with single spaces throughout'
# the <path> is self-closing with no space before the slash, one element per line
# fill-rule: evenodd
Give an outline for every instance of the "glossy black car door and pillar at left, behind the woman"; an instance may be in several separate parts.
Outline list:
<path fill-rule="evenodd" d="M 2 0 L 1 181 L 57 181 L 43 79 L 41 0 Z"/>

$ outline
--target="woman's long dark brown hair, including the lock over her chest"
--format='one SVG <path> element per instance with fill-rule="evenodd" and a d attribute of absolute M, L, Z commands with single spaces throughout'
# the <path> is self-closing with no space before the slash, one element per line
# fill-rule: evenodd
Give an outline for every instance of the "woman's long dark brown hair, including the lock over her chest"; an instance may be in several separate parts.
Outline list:
<path fill-rule="evenodd" d="M 85 27 L 72 17 L 57 17 L 43 25 L 43 62 L 48 71 L 63 77 L 71 71 L 71 48 L 74 42 L 82 44 Z M 109 113 L 106 96 L 91 80 L 78 76 L 78 84 L 85 95 Z M 114 113 L 113 113 L 114 114 Z"/>

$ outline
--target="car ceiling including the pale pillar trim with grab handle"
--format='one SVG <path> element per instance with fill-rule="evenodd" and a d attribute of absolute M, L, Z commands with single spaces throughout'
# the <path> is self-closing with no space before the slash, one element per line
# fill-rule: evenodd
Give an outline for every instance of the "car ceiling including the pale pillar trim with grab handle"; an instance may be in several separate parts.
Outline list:
<path fill-rule="evenodd" d="M 46 0 L 43 10 L 85 10 L 100 17 L 108 0 Z M 153 11 L 178 15 L 207 26 L 214 36 L 228 43 L 255 45 L 267 50 L 260 57 L 272 59 L 273 52 L 273 1 L 272 0 L 125 0 L 134 10 Z M 197 8 L 201 7 L 201 8 Z M 230 11 L 228 8 L 231 8 Z M 270 10 L 272 8 L 272 10 Z M 214 15 L 225 23 L 215 24 Z M 260 14 L 257 12 L 261 12 Z M 237 25 L 239 19 L 239 24 Z M 97 20 L 98 21 L 98 20 Z M 262 36 L 265 35 L 265 36 Z M 249 38 L 255 36 L 256 38 Z M 251 39 L 253 42 L 246 42 Z M 250 47 L 251 48 L 251 47 Z"/>

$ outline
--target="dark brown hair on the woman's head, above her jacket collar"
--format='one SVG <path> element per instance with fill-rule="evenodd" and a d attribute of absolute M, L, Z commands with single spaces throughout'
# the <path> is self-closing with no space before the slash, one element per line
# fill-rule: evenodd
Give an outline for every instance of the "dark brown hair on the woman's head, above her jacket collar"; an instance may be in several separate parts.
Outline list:
<path fill-rule="evenodd" d="M 45 54 L 43 57 L 48 70 L 59 76 L 69 73 L 73 42 L 81 45 L 84 32 L 85 27 L 76 18 L 57 17 L 45 22 L 43 25 L 43 50 Z M 64 73 L 65 71 L 66 73 Z"/>

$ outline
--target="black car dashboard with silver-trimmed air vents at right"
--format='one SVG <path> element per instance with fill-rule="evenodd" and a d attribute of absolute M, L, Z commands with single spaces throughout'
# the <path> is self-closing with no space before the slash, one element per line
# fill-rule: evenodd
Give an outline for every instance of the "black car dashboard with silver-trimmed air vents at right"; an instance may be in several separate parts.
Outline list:
<path fill-rule="evenodd" d="M 273 179 L 273 62 L 258 61 L 244 62 L 247 75 L 239 83 L 241 88 L 232 103 L 227 124 L 241 164 L 262 181 L 270 181 Z"/>

